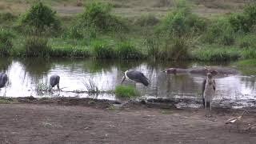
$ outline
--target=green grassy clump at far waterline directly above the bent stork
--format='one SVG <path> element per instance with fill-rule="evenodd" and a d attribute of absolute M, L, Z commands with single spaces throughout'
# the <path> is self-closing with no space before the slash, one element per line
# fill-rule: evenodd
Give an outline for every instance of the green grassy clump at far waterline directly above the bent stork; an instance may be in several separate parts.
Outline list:
<path fill-rule="evenodd" d="M 117 48 L 118 58 L 122 59 L 133 59 L 133 58 L 143 58 L 141 51 L 136 49 L 130 42 L 121 42 L 118 44 Z"/>

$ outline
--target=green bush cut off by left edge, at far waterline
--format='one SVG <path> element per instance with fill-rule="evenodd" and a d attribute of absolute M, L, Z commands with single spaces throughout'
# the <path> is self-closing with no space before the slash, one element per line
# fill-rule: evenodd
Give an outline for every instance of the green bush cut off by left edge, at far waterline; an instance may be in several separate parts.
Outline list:
<path fill-rule="evenodd" d="M 14 34 L 10 31 L 0 30 L 0 55 L 10 55 L 10 50 L 13 47 L 12 38 L 14 38 Z"/>

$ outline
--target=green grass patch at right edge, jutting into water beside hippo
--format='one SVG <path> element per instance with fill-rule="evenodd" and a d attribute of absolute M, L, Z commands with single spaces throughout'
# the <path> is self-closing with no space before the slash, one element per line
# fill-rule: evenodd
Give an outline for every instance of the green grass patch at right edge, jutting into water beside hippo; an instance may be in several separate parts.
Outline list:
<path fill-rule="evenodd" d="M 234 62 L 234 66 L 237 66 L 242 74 L 256 75 L 256 59 L 246 59 L 238 62 Z"/>

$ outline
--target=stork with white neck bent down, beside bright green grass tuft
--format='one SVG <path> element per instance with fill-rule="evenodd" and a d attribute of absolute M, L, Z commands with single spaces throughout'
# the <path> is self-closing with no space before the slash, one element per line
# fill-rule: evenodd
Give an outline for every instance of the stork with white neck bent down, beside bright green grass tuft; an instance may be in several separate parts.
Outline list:
<path fill-rule="evenodd" d="M 133 82 L 142 83 L 144 86 L 149 86 L 150 83 L 149 79 L 138 70 L 126 70 L 124 76 L 122 77 L 122 82 L 124 82 L 126 78 Z"/>

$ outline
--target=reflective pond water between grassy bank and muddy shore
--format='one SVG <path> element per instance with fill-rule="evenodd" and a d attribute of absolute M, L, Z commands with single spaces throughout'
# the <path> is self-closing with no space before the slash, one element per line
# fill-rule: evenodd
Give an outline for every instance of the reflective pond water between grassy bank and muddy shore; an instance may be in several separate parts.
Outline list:
<path fill-rule="evenodd" d="M 89 79 L 95 82 L 99 90 L 114 90 L 120 85 L 125 70 L 140 70 L 150 79 L 150 86 L 136 84 L 142 98 L 201 98 L 203 76 L 164 74 L 161 71 L 169 67 L 191 67 L 206 63 L 170 63 L 146 61 L 93 60 L 85 58 L 43 58 L 11 59 L 0 58 L 0 71 L 6 70 L 10 83 L 6 88 L 7 97 L 58 97 L 57 94 L 37 94 L 35 89 L 39 83 L 49 83 L 51 74 L 61 77 L 60 96 L 92 97 L 114 100 L 114 94 L 102 93 L 90 95 L 74 93 L 74 90 L 86 90 L 84 82 Z M 216 64 L 207 64 L 215 65 Z M 225 64 L 228 66 L 228 64 Z M 256 100 L 254 76 L 233 75 L 215 78 L 217 91 L 214 100 L 225 98 L 239 101 Z M 125 82 L 124 84 L 133 84 Z M 4 89 L 0 91 L 2 96 Z"/>

